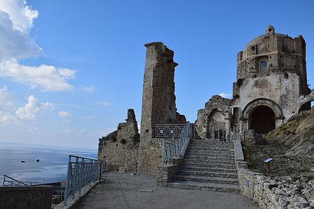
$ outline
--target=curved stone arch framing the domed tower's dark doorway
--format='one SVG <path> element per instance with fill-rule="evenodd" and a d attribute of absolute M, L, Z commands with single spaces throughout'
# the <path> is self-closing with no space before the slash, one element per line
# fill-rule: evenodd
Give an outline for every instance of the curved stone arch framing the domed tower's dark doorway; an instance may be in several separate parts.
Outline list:
<path fill-rule="evenodd" d="M 246 107 L 244 107 L 244 110 L 242 111 L 244 130 L 250 129 L 251 115 L 253 114 L 255 109 L 261 107 L 265 107 L 265 110 L 267 110 L 267 108 L 271 109 L 271 111 L 274 112 L 275 127 L 279 127 L 281 124 L 283 124 L 284 117 L 281 107 L 279 107 L 279 105 L 273 100 L 269 100 L 267 98 L 258 98 L 246 104 Z"/>

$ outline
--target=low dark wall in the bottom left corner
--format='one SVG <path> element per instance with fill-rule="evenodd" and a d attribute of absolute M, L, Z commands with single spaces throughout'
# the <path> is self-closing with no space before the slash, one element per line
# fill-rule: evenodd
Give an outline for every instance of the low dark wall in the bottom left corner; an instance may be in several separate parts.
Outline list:
<path fill-rule="evenodd" d="M 0 187 L 0 208 L 50 209 L 52 187 Z"/>

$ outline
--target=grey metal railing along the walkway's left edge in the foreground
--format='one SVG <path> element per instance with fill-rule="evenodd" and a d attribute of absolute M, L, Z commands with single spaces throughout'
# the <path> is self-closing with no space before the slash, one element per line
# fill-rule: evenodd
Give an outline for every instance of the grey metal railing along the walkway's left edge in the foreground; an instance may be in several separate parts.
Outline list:
<path fill-rule="evenodd" d="M 64 192 L 64 206 L 67 199 L 75 193 L 81 194 L 81 189 L 85 185 L 91 185 L 101 178 L 101 162 L 99 160 L 68 155 L 68 175 L 66 180 L 66 190 Z"/>

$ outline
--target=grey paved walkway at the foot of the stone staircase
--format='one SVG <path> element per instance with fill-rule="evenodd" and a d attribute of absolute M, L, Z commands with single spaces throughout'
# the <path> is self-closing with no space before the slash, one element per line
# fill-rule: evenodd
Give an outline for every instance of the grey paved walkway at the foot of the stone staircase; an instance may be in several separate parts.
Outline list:
<path fill-rule="evenodd" d="M 140 192 L 150 189 L 153 192 Z M 258 208 L 239 194 L 156 186 L 154 176 L 105 173 L 75 208 Z"/>

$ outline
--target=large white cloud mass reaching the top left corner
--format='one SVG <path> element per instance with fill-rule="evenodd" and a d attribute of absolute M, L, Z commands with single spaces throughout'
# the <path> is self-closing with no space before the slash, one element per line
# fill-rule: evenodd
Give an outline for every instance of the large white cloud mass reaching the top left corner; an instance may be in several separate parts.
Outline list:
<path fill-rule="evenodd" d="M 38 56 L 42 49 L 30 36 L 38 11 L 23 0 L 0 1 L 0 77 L 27 84 L 42 91 L 71 90 L 68 79 L 75 78 L 75 70 L 52 65 L 21 65 L 20 59 Z"/>

